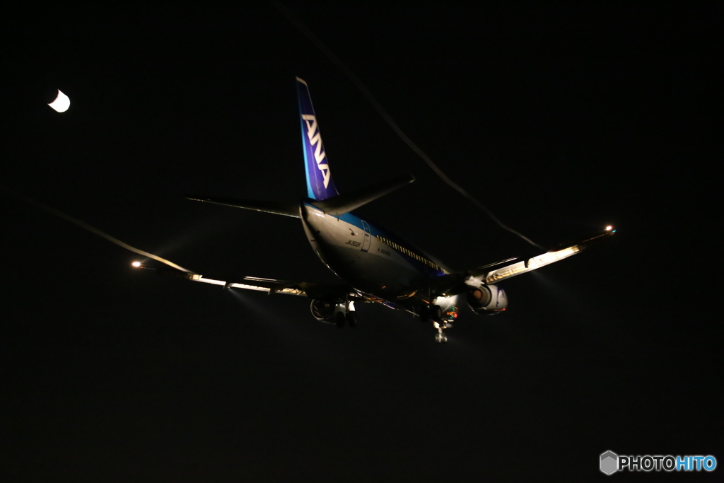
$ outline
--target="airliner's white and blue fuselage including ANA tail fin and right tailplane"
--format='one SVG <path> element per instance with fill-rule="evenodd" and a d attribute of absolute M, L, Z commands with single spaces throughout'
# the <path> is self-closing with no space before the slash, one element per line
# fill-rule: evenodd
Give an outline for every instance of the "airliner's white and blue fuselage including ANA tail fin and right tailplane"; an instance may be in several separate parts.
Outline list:
<path fill-rule="evenodd" d="M 454 306 L 454 298 L 433 299 L 437 294 L 425 283 L 445 275 L 444 267 L 392 232 L 375 227 L 352 212 L 401 185 L 393 180 L 392 185 L 376 186 L 355 196 L 340 196 L 332 179 L 309 88 L 299 77 L 297 93 L 308 196 L 300 202 L 299 215 L 319 259 L 358 295 L 366 295 L 366 300 L 413 313 L 417 313 L 417 308 L 433 305 L 443 310 Z M 404 180 L 403 185 L 412 180 L 414 178 Z"/>

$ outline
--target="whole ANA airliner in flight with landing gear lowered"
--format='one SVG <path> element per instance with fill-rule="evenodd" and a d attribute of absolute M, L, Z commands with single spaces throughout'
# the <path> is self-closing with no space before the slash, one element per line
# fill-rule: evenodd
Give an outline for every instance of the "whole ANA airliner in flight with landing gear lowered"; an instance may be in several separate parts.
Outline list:
<path fill-rule="evenodd" d="M 353 211 L 413 182 L 398 177 L 369 188 L 340 194 L 334 184 L 327 151 L 307 83 L 297 77 L 299 119 L 303 142 L 307 196 L 298 203 L 251 201 L 209 196 L 190 200 L 263 211 L 300 219 L 313 251 L 339 277 L 337 283 L 288 282 L 258 277 L 235 281 L 204 277 L 179 270 L 154 269 L 138 261 L 133 266 L 194 282 L 220 285 L 226 290 L 259 290 L 266 293 L 311 298 L 313 317 L 320 322 L 355 327 L 355 303 L 381 303 L 406 311 L 422 322 L 432 322 L 435 340 L 447 342 L 445 329 L 458 317 L 462 296 L 476 314 L 500 314 L 508 308 L 508 295 L 497 285 L 502 280 L 563 260 L 616 230 L 605 230 L 576 245 L 547 251 L 529 259 L 510 258 L 463 271 L 452 271 L 395 233 L 372 224 Z"/>

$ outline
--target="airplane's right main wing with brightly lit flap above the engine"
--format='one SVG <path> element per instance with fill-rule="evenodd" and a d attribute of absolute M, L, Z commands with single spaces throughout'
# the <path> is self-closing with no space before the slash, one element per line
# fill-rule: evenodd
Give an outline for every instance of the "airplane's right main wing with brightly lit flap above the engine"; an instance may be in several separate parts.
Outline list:
<path fill-rule="evenodd" d="M 429 287 L 439 295 L 455 295 L 466 290 L 466 285 L 476 287 L 479 287 L 481 284 L 491 285 L 501 280 L 509 279 L 510 277 L 532 272 L 556 261 L 567 259 L 569 256 L 580 253 L 592 244 L 599 242 L 607 236 L 613 235 L 615 232 L 616 230 L 613 227 L 606 227 L 603 232 L 575 245 L 560 248 L 559 250 L 547 251 L 530 259 L 521 260 L 513 257 L 512 259 L 497 261 L 494 264 L 479 266 L 463 272 L 443 275 L 442 277 L 428 280 L 425 287 L 421 287 L 421 289 Z"/>

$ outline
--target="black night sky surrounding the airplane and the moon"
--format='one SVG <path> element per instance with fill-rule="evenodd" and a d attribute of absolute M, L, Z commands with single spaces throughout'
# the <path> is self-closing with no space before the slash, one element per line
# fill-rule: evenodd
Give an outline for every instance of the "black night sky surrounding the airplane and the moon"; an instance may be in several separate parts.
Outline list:
<path fill-rule="evenodd" d="M 290 9 L 505 223 L 551 247 L 618 233 L 503 282 L 501 316 L 462 307 L 447 345 L 382 306 L 337 329 L 306 298 L 139 273 L 9 190 L 195 272 L 334 282 L 298 219 L 183 196 L 305 196 L 295 76 L 340 191 L 416 177 L 366 217 L 453 269 L 536 251 L 271 3 L 7 15 L 0 479 L 589 481 L 605 450 L 724 464 L 720 12 Z"/>

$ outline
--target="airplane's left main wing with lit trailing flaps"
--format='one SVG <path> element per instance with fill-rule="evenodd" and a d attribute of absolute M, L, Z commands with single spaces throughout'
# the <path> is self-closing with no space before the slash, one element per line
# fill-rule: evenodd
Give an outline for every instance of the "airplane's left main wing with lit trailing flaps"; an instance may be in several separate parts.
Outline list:
<path fill-rule="evenodd" d="M 133 262 L 132 266 L 137 269 L 156 272 L 156 274 L 164 277 L 181 278 L 192 282 L 219 285 L 225 290 L 230 288 L 239 288 L 242 290 L 266 292 L 269 295 L 273 293 L 284 293 L 287 295 L 305 295 L 310 298 L 345 298 L 345 296 L 350 293 L 350 290 L 352 290 L 352 287 L 345 284 L 289 282 L 286 280 L 274 280 L 260 277 L 240 277 L 237 281 L 220 280 L 216 277 L 204 277 L 202 274 L 182 272 L 181 270 L 167 269 L 166 267 L 154 268 L 145 266 L 138 261 Z"/>

